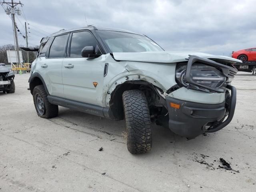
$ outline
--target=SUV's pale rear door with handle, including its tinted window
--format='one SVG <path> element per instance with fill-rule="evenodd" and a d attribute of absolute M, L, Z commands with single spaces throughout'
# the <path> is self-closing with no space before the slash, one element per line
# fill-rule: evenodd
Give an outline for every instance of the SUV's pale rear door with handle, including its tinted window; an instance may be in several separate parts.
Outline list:
<path fill-rule="evenodd" d="M 56 36 L 46 53 L 46 57 L 40 61 L 42 76 L 48 92 L 52 96 L 63 97 L 62 62 L 66 57 L 66 48 L 69 34 Z"/>

